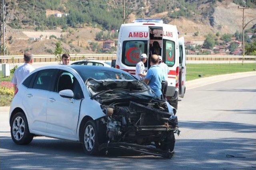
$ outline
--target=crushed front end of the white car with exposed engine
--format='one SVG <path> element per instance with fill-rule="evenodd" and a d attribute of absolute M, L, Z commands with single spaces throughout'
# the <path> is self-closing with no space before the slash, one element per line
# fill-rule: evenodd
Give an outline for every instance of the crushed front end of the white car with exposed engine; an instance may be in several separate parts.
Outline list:
<path fill-rule="evenodd" d="M 106 114 L 99 120 L 100 131 L 106 132 L 99 150 L 118 148 L 162 157 L 173 154 L 174 133 L 180 133 L 176 109 L 154 98 L 144 82 L 91 79 L 87 87 Z"/>

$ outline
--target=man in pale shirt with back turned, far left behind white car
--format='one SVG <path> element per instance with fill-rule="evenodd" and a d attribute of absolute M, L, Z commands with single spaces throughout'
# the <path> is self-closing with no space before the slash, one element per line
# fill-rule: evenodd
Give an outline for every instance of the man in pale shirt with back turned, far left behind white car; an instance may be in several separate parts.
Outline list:
<path fill-rule="evenodd" d="M 14 91 L 16 92 L 17 87 L 19 86 L 20 82 L 32 71 L 35 69 L 32 67 L 33 63 L 33 55 L 30 52 L 24 53 L 24 64 L 19 66 L 13 74 L 12 77 L 12 84 L 14 86 Z"/>

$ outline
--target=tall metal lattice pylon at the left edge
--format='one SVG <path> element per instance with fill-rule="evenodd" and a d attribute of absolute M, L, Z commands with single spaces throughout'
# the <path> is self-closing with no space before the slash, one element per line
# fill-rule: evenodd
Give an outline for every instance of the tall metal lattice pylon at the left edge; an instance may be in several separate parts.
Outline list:
<path fill-rule="evenodd" d="M 0 55 L 7 55 L 7 37 L 6 37 L 6 6 L 5 0 L 0 2 Z M 0 63 L 2 60 L 0 59 Z"/>

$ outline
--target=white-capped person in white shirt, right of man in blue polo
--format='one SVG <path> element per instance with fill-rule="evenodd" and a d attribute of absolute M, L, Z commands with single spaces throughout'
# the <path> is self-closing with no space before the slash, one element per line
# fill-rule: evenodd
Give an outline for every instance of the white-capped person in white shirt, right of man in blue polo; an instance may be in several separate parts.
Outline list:
<path fill-rule="evenodd" d="M 159 57 L 159 66 L 162 69 L 163 72 L 163 80 L 162 80 L 162 100 L 166 100 L 166 91 L 167 91 L 167 86 L 168 86 L 168 82 L 167 82 L 167 78 L 168 78 L 168 65 L 164 63 L 162 56 L 158 55 Z"/>

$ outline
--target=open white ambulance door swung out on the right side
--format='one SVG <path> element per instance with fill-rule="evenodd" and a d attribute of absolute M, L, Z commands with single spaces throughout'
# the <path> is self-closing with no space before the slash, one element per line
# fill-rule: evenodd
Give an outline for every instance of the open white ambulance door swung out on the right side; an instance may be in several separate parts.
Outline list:
<path fill-rule="evenodd" d="M 186 82 L 186 54 L 185 54 L 185 41 L 184 41 L 184 37 L 180 37 L 179 38 L 179 52 L 180 52 L 180 56 L 179 56 L 179 68 L 180 68 L 180 72 L 179 72 L 179 94 L 181 98 L 184 98 L 184 94 L 186 91 L 186 86 L 185 86 L 185 82 Z"/>

